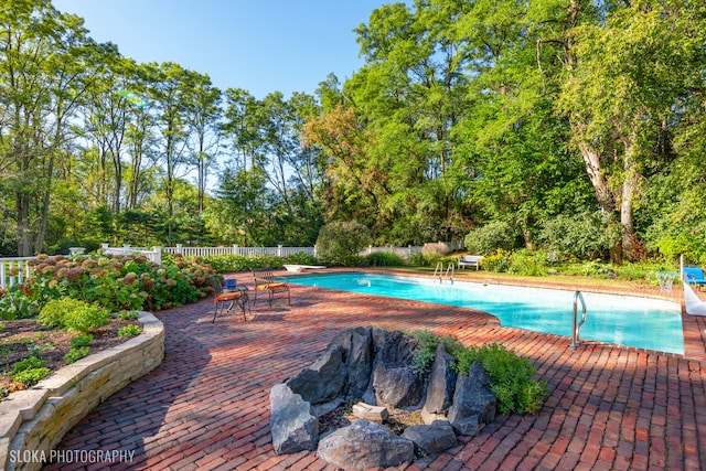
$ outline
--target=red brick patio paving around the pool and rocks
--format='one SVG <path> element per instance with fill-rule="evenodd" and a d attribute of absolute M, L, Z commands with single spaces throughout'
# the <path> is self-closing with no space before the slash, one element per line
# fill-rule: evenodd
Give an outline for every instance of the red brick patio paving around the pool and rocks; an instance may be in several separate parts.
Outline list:
<path fill-rule="evenodd" d="M 252 283 L 249 275 L 235 277 Z M 661 296 L 651 287 L 617 291 Z M 668 299 L 681 301 L 678 291 Z M 568 338 L 448 306 L 296 285 L 291 298 L 287 306 L 280 295 L 271 309 L 258 302 L 247 322 L 232 314 L 211 323 L 211 298 L 158 312 L 167 330 L 162 365 L 108 398 L 60 446 L 122 450 L 132 460 L 45 469 L 334 470 L 314 452 L 275 454 L 268 395 L 339 331 L 359 325 L 501 343 L 531 358 L 550 390 L 537 415 L 498 417 L 478 437 L 399 469 L 706 469 L 704 318 L 683 314 L 685 355 L 674 355 L 596 342 L 574 349 Z"/>

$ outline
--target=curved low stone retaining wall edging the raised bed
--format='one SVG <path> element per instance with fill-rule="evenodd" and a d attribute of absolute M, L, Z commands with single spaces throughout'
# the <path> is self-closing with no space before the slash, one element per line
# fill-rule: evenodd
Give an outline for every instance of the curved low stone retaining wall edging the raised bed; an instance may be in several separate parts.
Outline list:
<path fill-rule="evenodd" d="M 51 450 L 90 410 L 161 364 L 164 325 L 145 311 L 138 320 L 140 335 L 66 365 L 0 403 L 0 469 L 41 469 Z"/>

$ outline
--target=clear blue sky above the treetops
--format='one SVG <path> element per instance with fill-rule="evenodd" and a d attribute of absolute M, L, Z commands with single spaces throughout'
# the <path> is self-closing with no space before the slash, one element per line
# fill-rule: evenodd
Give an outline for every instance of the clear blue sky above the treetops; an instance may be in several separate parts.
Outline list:
<path fill-rule="evenodd" d="M 313 94 L 363 65 L 353 29 L 392 0 L 53 0 L 138 62 L 175 62 L 256 98 Z"/>

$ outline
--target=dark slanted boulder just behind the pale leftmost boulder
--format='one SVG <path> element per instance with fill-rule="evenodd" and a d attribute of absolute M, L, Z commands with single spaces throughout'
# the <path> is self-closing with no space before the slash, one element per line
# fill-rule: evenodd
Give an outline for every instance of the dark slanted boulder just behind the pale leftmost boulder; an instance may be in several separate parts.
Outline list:
<path fill-rule="evenodd" d="M 345 386 L 343 347 L 332 344 L 310 367 L 287 382 L 287 386 L 311 404 L 328 403 L 343 393 Z"/>

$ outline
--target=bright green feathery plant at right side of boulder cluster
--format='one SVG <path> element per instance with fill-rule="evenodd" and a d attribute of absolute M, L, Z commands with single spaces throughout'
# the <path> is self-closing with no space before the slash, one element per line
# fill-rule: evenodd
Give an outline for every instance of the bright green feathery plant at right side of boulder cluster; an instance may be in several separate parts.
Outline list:
<path fill-rule="evenodd" d="M 536 414 L 539 410 L 548 390 L 545 382 L 533 378 L 536 368 L 530 360 L 492 343 L 463 350 L 458 356 L 458 372 L 468 374 L 474 362 L 488 371 L 501 414 Z"/>

